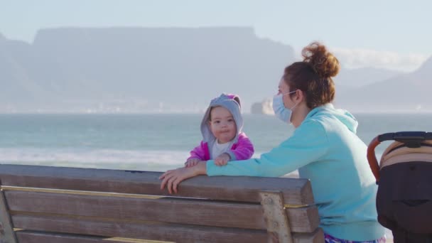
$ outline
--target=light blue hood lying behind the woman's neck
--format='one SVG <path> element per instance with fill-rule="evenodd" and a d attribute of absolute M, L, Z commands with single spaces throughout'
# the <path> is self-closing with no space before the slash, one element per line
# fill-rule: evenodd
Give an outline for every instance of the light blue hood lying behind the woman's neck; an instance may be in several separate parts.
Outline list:
<path fill-rule="evenodd" d="M 312 109 L 311 112 L 309 112 L 309 114 L 306 116 L 306 119 L 309 117 L 313 117 L 313 115 L 318 112 L 325 116 L 335 117 L 340 122 L 342 122 L 342 124 L 344 124 L 347 129 L 349 129 L 353 133 L 357 132 L 357 126 L 359 125 L 359 122 L 350 112 L 346 111 L 345 109 L 335 109 L 335 107 L 333 107 L 333 104 L 330 103 L 324 104 L 320 107 Z"/>

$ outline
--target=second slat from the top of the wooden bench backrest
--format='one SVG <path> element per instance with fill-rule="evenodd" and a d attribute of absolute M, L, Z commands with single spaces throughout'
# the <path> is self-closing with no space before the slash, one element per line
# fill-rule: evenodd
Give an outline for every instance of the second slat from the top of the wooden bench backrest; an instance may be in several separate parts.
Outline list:
<path fill-rule="evenodd" d="M 109 198 L 20 191 L 6 191 L 6 197 L 11 210 L 14 211 L 266 229 L 261 205 L 253 204 L 175 198 Z M 137 215 L 136 212 L 142 213 Z M 292 232 L 313 232 L 319 225 L 318 210 L 315 206 L 286 208 L 286 215 Z"/>

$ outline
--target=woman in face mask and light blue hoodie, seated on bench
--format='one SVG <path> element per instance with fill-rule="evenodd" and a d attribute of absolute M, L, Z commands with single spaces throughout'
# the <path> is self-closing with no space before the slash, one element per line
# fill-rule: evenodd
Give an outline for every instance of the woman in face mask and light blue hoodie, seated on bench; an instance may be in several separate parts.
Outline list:
<path fill-rule="evenodd" d="M 309 178 L 326 242 L 385 242 L 377 222 L 377 185 L 367 163 L 367 146 L 355 134 L 357 120 L 335 109 L 331 77 L 339 61 L 324 45 L 303 49 L 303 61 L 285 68 L 273 108 L 276 117 L 296 127 L 293 135 L 260 158 L 213 161 L 161 175 L 161 189 L 177 192 L 178 183 L 196 175 L 281 176 L 298 169 Z"/>

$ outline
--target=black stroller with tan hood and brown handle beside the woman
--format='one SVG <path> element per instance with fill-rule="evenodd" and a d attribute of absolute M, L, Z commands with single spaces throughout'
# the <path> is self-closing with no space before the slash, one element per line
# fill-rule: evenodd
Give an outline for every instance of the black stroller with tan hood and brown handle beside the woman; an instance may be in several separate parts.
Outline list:
<path fill-rule="evenodd" d="M 382 154 L 375 147 L 394 141 Z M 432 243 L 432 132 L 401 131 L 375 137 L 367 160 L 377 179 L 378 221 L 394 242 Z"/>

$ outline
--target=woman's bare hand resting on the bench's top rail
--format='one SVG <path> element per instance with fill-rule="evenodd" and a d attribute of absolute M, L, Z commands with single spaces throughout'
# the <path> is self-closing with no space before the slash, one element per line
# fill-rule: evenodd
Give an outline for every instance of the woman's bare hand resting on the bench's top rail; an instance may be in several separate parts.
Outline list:
<path fill-rule="evenodd" d="M 206 163 L 207 161 L 201 161 L 200 163 L 192 167 L 183 167 L 171 171 L 166 171 L 166 173 L 163 173 L 159 177 L 159 179 L 162 180 L 161 190 L 163 190 L 163 188 L 165 188 L 166 186 L 170 194 L 172 194 L 173 191 L 174 193 L 177 193 L 177 186 L 183 180 L 195 177 L 197 175 L 206 174 Z"/>

